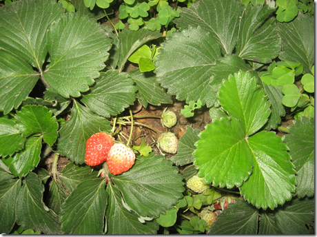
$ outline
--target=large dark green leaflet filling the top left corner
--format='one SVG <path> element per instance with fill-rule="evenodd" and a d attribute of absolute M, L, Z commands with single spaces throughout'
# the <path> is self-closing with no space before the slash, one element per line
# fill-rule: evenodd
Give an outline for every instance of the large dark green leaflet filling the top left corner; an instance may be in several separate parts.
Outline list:
<path fill-rule="evenodd" d="M 3 6 L 0 9 L 0 48 L 41 70 L 48 53 L 46 31 L 63 13 L 63 6 L 54 0 L 17 1 Z M 18 67 L 19 63 L 17 70 Z"/>

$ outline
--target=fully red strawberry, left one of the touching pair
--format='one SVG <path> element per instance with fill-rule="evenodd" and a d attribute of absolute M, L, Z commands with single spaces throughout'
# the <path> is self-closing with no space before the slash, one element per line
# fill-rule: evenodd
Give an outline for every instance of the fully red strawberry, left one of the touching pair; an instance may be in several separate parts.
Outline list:
<path fill-rule="evenodd" d="M 108 152 L 113 145 L 112 136 L 105 132 L 98 132 L 90 136 L 86 143 L 85 161 L 87 165 L 96 166 L 107 161 Z"/>

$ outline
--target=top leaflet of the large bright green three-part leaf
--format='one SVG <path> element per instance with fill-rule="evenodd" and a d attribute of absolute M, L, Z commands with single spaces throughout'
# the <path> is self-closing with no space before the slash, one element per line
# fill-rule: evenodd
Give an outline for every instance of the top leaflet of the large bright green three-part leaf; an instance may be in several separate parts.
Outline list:
<path fill-rule="evenodd" d="M 218 93 L 223 109 L 238 118 L 248 136 L 260 130 L 270 114 L 267 96 L 256 83 L 249 72 L 239 71 L 223 82 Z"/>

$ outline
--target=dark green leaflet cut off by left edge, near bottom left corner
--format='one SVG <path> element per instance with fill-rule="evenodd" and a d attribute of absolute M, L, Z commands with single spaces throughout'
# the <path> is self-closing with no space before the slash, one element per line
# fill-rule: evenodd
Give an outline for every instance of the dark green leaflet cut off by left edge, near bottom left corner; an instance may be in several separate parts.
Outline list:
<path fill-rule="evenodd" d="M 9 234 L 15 224 L 16 201 L 21 188 L 21 180 L 0 169 L 0 232 Z M 8 176 L 7 178 L 2 178 Z"/>

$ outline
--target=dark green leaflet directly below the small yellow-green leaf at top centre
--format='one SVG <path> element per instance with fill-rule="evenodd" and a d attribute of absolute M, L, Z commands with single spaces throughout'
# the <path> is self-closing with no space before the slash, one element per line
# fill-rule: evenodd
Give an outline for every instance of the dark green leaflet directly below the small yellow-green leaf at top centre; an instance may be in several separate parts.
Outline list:
<path fill-rule="evenodd" d="M 161 105 L 161 103 L 173 103 L 172 96 L 156 81 L 154 72 L 140 72 L 139 69 L 129 72 L 136 84 L 136 98 L 145 108 L 147 104 Z"/>

